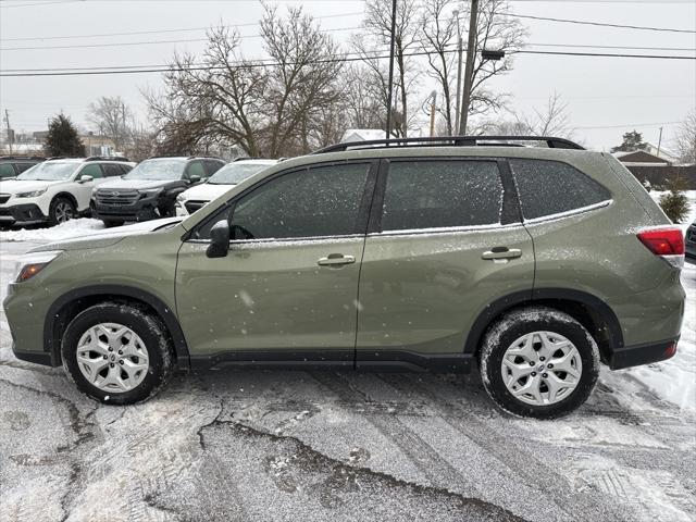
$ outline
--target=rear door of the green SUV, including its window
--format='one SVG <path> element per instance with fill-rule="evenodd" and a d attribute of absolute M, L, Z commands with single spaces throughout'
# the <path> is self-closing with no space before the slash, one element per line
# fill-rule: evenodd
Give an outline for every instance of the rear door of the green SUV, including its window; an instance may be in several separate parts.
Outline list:
<path fill-rule="evenodd" d="M 506 162 L 385 160 L 360 276 L 357 362 L 461 355 L 476 318 L 506 295 L 531 296 L 533 278 Z"/>

